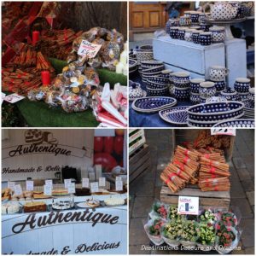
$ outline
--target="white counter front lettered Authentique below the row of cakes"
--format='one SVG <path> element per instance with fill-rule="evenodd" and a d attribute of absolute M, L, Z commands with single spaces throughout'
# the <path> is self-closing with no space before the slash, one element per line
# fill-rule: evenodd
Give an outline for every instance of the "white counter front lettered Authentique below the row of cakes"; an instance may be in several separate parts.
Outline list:
<path fill-rule="evenodd" d="M 104 201 L 111 195 L 94 195 Z M 127 195 L 114 195 L 126 198 Z M 70 200 L 70 196 L 55 200 Z M 84 202 L 91 196 L 75 196 Z M 44 200 L 50 210 L 52 199 Z M 23 205 L 25 201 L 20 201 Z M 67 236 L 68 234 L 68 236 Z M 127 206 L 2 215 L 2 253 L 7 254 L 125 254 Z"/>

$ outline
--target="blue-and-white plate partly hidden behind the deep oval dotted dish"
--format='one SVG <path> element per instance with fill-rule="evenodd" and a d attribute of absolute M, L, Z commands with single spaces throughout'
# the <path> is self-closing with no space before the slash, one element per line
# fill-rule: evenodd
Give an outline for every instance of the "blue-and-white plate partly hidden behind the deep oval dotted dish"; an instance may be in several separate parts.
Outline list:
<path fill-rule="evenodd" d="M 188 113 L 186 109 L 170 111 L 170 109 L 163 109 L 159 112 L 160 118 L 172 125 L 187 125 Z"/>

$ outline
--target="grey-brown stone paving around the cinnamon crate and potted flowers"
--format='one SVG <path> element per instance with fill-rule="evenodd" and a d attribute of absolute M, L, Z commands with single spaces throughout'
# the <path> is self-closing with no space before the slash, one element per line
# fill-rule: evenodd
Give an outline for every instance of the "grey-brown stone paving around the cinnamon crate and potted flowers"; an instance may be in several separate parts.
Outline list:
<path fill-rule="evenodd" d="M 231 206 L 241 210 L 241 251 L 234 254 L 254 254 L 254 131 L 237 130 L 230 162 Z M 172 137 L 168 130 L 146 130 L 152 168 L 130 186 L 130 253 L 131 254 L 178 254 L 175 251 L 145 251 L 148 236 L 143 230 L 143 221 L 154 199 L 160 199 L 160 172 L 168 164 L 172 154 Z"/>

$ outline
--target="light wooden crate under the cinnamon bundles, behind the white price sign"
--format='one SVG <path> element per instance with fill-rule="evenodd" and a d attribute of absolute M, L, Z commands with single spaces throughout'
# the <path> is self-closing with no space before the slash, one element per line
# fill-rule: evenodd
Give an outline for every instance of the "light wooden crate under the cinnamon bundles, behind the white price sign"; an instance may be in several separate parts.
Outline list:
<path fill-rule="evenodd" d="M 160 201 L 166 204 L 177 205 L 178 196 L 198 196 L 199 205 L 205 209 L 218 208 L 224 211 L 228 211 L 230 207 L 230 192 L 228 191 L 207 191 L 203 192 L 197 186 L 190 186 L 184 188 L 177 193 L 172 193 L 166 184 L 162 185 L 160 191 Z"/>

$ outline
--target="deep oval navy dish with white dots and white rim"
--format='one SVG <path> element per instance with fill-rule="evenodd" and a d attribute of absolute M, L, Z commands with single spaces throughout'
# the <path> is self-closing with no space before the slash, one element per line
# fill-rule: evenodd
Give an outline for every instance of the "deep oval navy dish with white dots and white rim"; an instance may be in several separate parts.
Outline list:
<path fill-rule="evenodd" d="M 237 119 L 243 114 L 242 102 L 216 102 L 198 104 L 188 108 L 189 119 L 194 122 L 218 123 L 225 119 Z"/>

